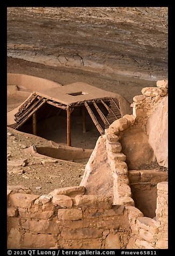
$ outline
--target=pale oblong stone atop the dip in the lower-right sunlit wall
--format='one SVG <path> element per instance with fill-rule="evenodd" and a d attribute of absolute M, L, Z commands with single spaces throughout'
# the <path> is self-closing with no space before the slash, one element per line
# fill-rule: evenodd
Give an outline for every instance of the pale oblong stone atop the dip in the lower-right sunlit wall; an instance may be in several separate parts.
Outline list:
<path fill-rule="evenodd" d="M 136 221 L 138 227 L 141 227 L 141 229 L 148 230 L 152 233 L 158 232 L 158 223 L 154 221 L 154 219 L 148 218 L 148 217 L 139 217 Z"/>

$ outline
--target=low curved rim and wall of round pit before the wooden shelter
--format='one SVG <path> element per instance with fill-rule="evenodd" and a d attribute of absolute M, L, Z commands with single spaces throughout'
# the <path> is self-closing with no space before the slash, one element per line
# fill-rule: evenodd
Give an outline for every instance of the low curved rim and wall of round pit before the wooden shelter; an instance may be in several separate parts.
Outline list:
<path fill-rule="evenodd" d="M 25 152 L 37 155 L 37 157 L 49 157 L 65 161 L 87 163 L 93 150 L 84 150 L 83 148 L 68 147 L 68 146 L 31 146 L 26 148 Z"/>

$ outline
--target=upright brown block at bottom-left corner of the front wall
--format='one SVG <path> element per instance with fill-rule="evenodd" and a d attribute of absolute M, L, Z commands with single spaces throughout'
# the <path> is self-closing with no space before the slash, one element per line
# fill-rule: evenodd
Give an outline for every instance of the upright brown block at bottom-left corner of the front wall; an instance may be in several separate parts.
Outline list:
<path fill-rule="evenodd" d="M 19 249 L 20 239 L 20 232 L 17 229 L 11 229 L 8 237 L 8 249 Z"/>

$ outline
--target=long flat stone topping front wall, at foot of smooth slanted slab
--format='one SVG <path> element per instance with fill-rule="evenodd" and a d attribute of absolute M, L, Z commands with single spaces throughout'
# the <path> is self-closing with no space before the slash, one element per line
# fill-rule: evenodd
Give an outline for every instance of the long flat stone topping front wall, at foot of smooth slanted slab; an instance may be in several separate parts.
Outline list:
<path fill-rule="evenodd" d="M 96 195 L 77 195 L 75 197 L 75 205 L 77 205 L 78 207 L 110 209 L 112 207 L 112 197 Z"/>

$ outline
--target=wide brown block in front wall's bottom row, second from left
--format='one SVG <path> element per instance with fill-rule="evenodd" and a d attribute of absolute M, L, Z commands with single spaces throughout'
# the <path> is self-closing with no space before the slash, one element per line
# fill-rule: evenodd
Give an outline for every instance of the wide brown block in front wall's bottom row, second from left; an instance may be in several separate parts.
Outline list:
<path fill-rule="evenodd" d="M 52 234 L 32 234 L 26 232 L 21 248 L 47 249 L 48 247 L 54 247 L 55 244 L 56 238 Z"/>

